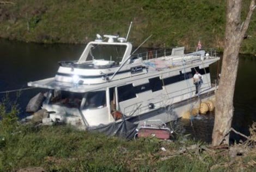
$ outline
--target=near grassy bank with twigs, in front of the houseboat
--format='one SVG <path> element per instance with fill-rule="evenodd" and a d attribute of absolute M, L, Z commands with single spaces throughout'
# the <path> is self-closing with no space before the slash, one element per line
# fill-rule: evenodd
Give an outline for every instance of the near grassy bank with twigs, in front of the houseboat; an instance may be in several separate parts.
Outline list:
<path fill-rule="evenodd" d="M 21 125 L 17 106 L 0 103 L 0 171 L 255 171 L 256 148 L 219 149 L 179 137 L 126 140 L 71 126 Z M 10 107 L 10 108 L 9 108 Z M 256 125 L 253 130 L 254 141 Z M 251 131 L 252 133 L 252 131 Z"/>

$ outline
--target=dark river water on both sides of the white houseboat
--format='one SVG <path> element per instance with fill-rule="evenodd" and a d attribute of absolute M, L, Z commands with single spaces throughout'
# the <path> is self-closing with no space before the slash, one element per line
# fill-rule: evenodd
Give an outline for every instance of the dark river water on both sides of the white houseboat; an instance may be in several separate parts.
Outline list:
<path fill-rule="evenodd" d="M 72 44 L 35 44 L 0 39 L 0 92 L 27 87 L 27 82 L 54 77 L 58 61 L 77 60 L 85 45 Z M 215 75 L 217 64 L 210 67 Z M 256 121 L 256 56 L 240 55 L 239 69 L 235 86 L 233 128 L 245 135 Z M 25 90 L 19 96 L 20 115 L 26 116 L 28 101 L 38 92 L 38 88 Z M 0 93 L 0 98 L 5 94 Z M 9 93 L 11 100 L 16 93 Z M 200 119 L 179 120 L 178 125 L 190 133 L 192 138 L 205 142 L 211 141 L 214 125 L 214 113 L 208 113 Z M 231 135 L 239 140 L 240 136 Z"/>

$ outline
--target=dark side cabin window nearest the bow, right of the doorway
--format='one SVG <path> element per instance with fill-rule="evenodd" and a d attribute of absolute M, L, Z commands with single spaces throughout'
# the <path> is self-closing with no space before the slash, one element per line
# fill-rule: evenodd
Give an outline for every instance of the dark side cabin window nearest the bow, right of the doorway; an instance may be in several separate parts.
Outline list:
<path fill-rule="evenodd" d="M 136 97 L 135 89 L 132 84 L 120 86 L 118 90 L 118 101 L 125 101 Z"/>

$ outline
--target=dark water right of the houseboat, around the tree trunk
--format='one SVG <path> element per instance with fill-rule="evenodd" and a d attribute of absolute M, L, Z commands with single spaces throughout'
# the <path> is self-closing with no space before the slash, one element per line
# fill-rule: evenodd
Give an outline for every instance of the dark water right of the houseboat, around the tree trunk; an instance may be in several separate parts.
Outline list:
<path fill-rule="evenodd" d="M 211 73 L 216 73 L 217 63 L 210 67 Z M 256 122 L 256 56 L 240 54 L 232 127 L 248 136 L 249 126 L 253 122 Z M 181 119 L 179 124 L 184 126 L 186 133 L 190 133 L 193 138 L 211 142 L 214 112 L 202 116 L 202 119 Z M 230 139 L 231 141 L 239 141 L 244 138 L 231 132 Z"/>

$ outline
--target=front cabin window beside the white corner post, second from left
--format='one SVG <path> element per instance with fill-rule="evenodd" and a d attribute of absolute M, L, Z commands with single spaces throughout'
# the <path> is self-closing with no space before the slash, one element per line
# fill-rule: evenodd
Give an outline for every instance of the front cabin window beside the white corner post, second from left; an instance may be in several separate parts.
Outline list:
<path fill-rule="evenodd" d="M 83 109 L 101 108 L 106 106 L 106 91 L 88 92 Z"/>

